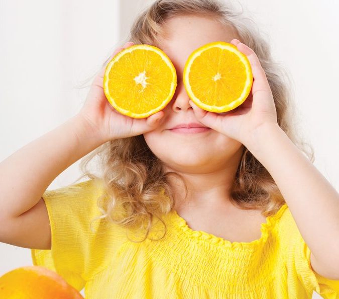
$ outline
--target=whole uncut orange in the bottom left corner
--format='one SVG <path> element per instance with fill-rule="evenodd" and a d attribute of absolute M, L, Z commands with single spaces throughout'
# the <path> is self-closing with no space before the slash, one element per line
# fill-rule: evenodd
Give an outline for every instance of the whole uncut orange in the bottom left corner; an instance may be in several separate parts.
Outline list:
<path fill-rule="evenodd" d="M 83 299 L 62 276 L 42 266 L 16 268 L 0 277 L 1 299 Z"/>

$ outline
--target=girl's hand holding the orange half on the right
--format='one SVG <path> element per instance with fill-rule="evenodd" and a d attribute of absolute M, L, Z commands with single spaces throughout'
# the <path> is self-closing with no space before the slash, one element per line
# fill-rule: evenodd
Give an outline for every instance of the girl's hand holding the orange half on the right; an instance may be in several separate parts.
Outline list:
<path fill-rule="evenodd" d="M 256 53 L 237 39 L 231 41 L 249 59 L 253 73 L 252 94 L 237 108 L 215 113 L 203 110 L 189 101 L 199 122 L 222 134 L 247 144 L 254 136 L 255 130 L 263 124 L 277 123 L 277 112 L 271 88 L 264 69 Z"/>

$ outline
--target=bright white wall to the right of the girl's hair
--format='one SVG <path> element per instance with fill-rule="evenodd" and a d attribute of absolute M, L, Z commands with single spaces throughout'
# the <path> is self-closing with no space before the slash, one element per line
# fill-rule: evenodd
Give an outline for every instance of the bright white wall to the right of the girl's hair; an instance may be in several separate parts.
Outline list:
<path fill-rule="evenodd" d="M 300 123 L 314 147 L 314 165 L 339 190 L 339 3 L 241 2 L 268 34 L 276 60 L 290 71 Z"/>

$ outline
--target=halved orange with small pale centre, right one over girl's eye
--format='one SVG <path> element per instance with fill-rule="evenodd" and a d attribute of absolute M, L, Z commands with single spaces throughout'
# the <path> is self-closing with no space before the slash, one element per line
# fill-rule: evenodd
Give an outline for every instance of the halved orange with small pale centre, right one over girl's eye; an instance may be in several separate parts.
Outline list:
<path fill-rule="evenodd" d="M 235 45 L 211 42 L 189 55 L 183 83 L 190 99 L 201 109 L 227 112 L 240 106 L 250 94 L 251 64 Z"/>

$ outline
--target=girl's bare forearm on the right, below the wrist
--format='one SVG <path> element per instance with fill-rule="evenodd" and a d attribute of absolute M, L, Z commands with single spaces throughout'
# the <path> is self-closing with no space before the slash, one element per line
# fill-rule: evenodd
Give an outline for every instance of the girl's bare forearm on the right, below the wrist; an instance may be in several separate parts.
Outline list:
<path fill-rule="evenodd" d="M 339 264 L 339 194 L 277 126 L 259 130 L 247 144 L 282 193 L 315 258 Z"/>

